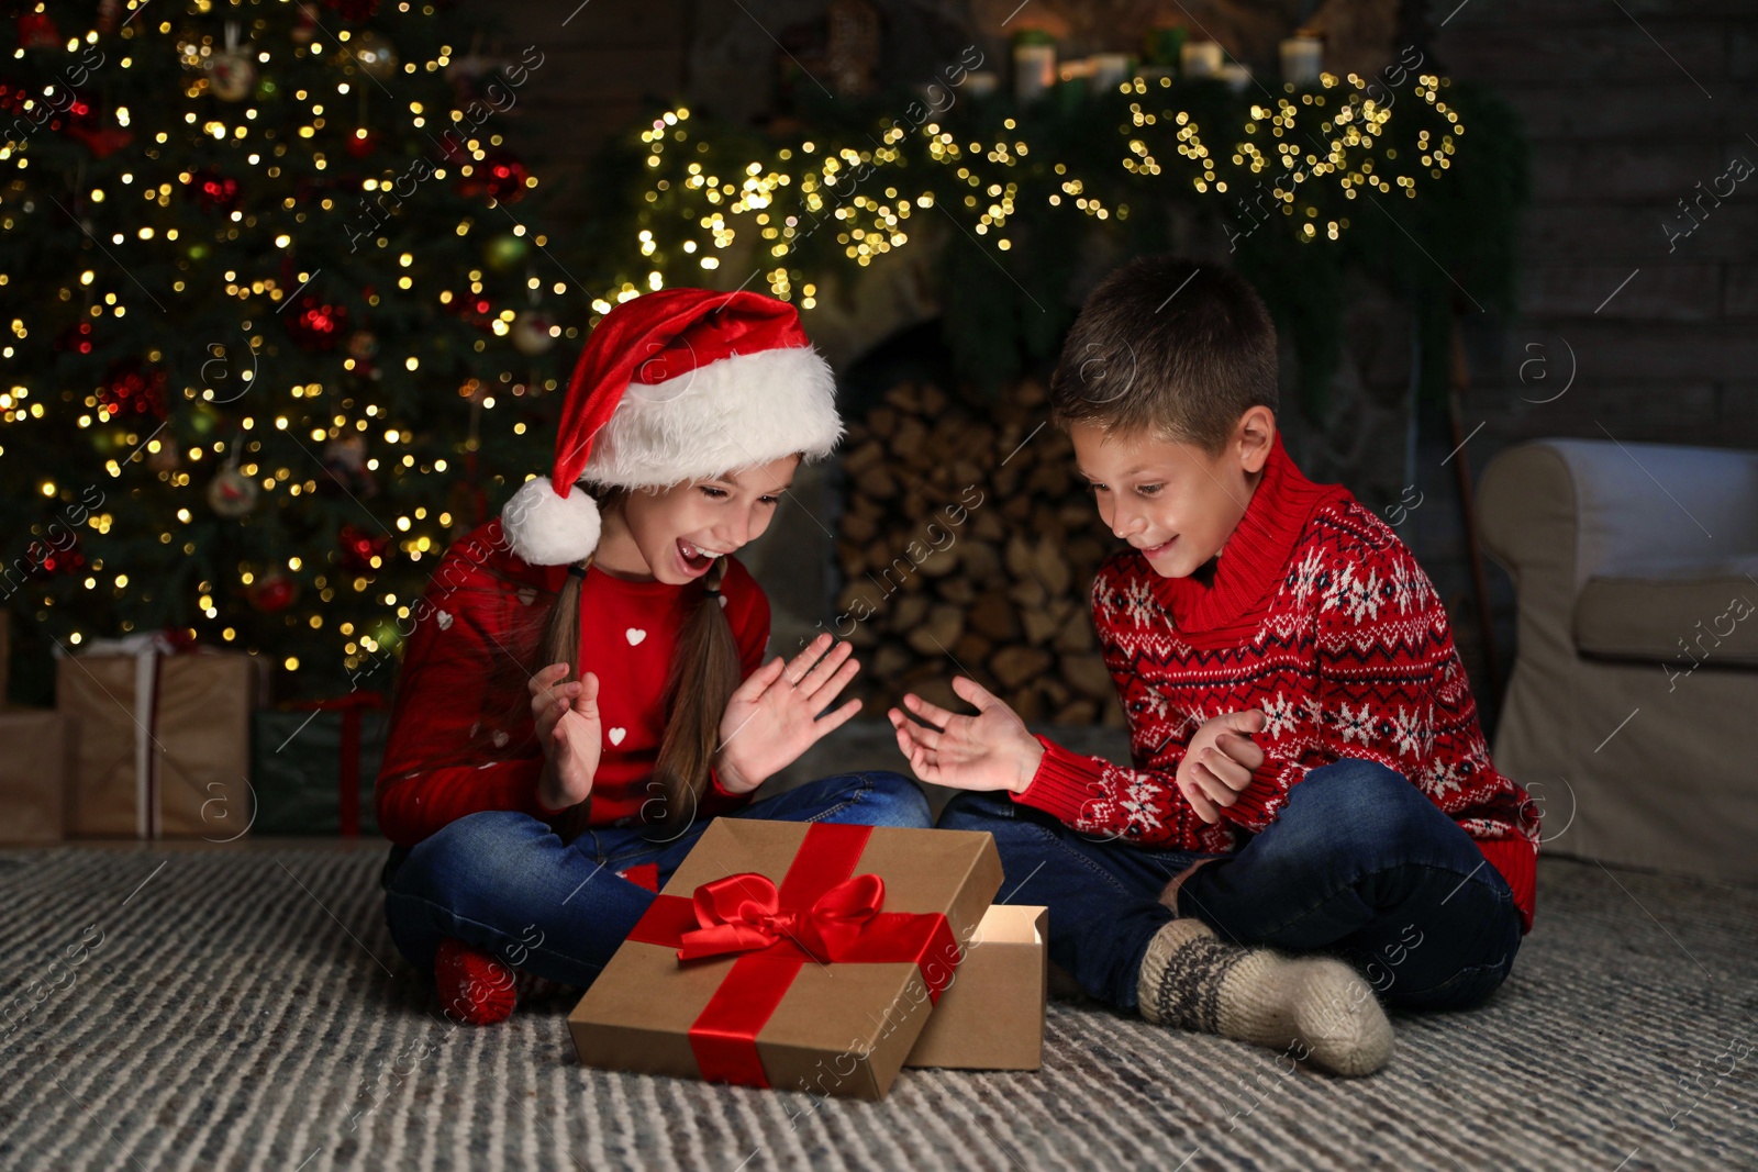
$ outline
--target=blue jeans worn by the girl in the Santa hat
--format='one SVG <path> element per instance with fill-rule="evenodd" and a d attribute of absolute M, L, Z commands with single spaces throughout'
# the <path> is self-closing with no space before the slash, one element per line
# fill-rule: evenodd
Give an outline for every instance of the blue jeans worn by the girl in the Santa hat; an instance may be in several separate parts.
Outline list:
<path fill-rule="evenodd" d="M 842 773 L 721 817 L 856 826 L 932 826 L 928 799 L 898 773 Z M 394 847 L 380 882 L 397 949 L 431 973 L 440 940 L 457 937 L 508 965 L 589 986 L 654 893 L 617 875 L 656 863 L 659 886 L 708 821 L 689 828 L 596 828 L 571 843 L 529 814 L 483 810 L 413 847 Z"/>

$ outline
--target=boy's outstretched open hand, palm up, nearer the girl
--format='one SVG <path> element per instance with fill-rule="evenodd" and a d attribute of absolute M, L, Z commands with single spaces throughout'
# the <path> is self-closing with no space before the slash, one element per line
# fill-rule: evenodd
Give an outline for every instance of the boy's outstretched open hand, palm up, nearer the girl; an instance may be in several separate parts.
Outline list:
<path fill-rule="evenodd" d="M 933 785 L 1025 792 L 1037 775 L 1044 747 L 1013 708 L 976 680 L 955 676 L 953 691 L 974 705 L 977 715 L 948 712 L 914 692 L 904 696 L 904 706 L 932 727 L 911 720 L 897 708 L 886 713 L 897 729 L 897 747 L 909 757 L 909 768 Z"/>

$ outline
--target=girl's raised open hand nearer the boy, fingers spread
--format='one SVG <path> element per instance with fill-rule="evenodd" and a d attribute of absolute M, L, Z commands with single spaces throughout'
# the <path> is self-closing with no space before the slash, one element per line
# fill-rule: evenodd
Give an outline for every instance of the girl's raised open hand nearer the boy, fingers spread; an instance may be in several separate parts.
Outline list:
<path fill-rule="evenodd" d="M 819 736 L 860 712 L 861 701 L 851 699 L 819 719 L 861 669 L 858 661 L 849 659 L 853 647 L 837 643 L 832 648 L 832 636 L 821 634 L 791 662 L 777 655 L 752 671 L 726 701 L 721 749 L 714 756 L 724 789 L 751 792 L 798 761 Z"/>

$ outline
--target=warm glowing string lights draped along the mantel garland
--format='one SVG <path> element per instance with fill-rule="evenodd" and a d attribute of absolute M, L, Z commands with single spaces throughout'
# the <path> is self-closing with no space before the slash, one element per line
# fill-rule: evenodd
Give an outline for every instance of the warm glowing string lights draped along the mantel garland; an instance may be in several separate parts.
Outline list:
<path fill-rule="evenodd" d="M 1415 109 L 1405 105 L 1408 112 L 1398 116 L 1403 134 L 1394 141 L 1392 104 L 1368 95 L 1385 95 L 1385 86 L 1355 74 L 1322 74 L 1317 90 L 1289 86 L 1260 100 L 1229 100 L 1218 84 L 1134 77 L 1116 88 L 1111 102 L 1123 141 L 1118 172 L 1139 181 L 1132 188 L 1116 183 L 1118 176 L 1102 183 L 1106 176 L 1076 174 L 1065 162 L 1041 162 L 1046 153 L 1032 148 L 1021 119 L 1011 116 L 983 139 L 955 132 L 944 119 L 914 130 L 891 123 L 868 134 L 863 146 L 825 146 L 802 134 L 765 158 L 735 163 L 738 156 L 723 151 L 710 134 L 689 134 L 687 107 L 668 109 L 640 132 L 647 190 L 635 244 L 645 281 L 626 279 L 603 290 L 592 309 L 603 315 L 668 279 L 691 279 L 691 269 L 716 271 L 742 234 L 761 241 L 754 250 L 759 257 L 784 262 L 798 257 L 809 237 L 828 230 L 842 260 L 865 267 L 904 248 L 911 241 L 909 220 L 937 202 L 972 235 L 1009 251 L 1014 239 L 1007 227 L 1027 202 L 1101 221 L 1127 220 L 1129 202 L 1111 192 L 1130 190 L 1151 200 L 1160 197 L 1153 184 L 1181 181 L 1225 216 L 1241 192 L 1268 183 L 1275 211 L 1294 221 L 1287 227 L 1294 239 L 1336 241 L 1350 228 L 1348 200 L 1364 192 L 1415 199 L 1419 181 L 1440 179 L 1452 167 L 1464 127 L 1442 97 L 1449 86 L 1440 76 L 1417 77 L 1410 88 Z M 1227 127 L 1210 135 L 1227 142 L 1225 149 L 1211 149 L 1192 109 L 1176 105 L 1192 97 L 1232 116 L 1231 123 L 1201 119 Z M 1405 130 L 1405 123 L 1413 128 Z M 1403 141 L 1415 148 L 1406 148 L 1406 156 L 1419 156 L 1420 167 L 1399 165 Z M 802 309 L 816 304 L 812 276 L 805 265 L 763 271 L 768 292 Z"/>

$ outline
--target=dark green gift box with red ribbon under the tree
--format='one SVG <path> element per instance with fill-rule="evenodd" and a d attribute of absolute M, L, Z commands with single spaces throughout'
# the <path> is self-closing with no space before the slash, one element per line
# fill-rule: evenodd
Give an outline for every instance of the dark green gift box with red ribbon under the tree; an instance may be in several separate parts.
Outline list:
<path fill-rule="evenodd" d="M 255 715 L 257 835 L 376 835 L 373 782 L 390 712 L 380 692 L 283 705 Z"/>

